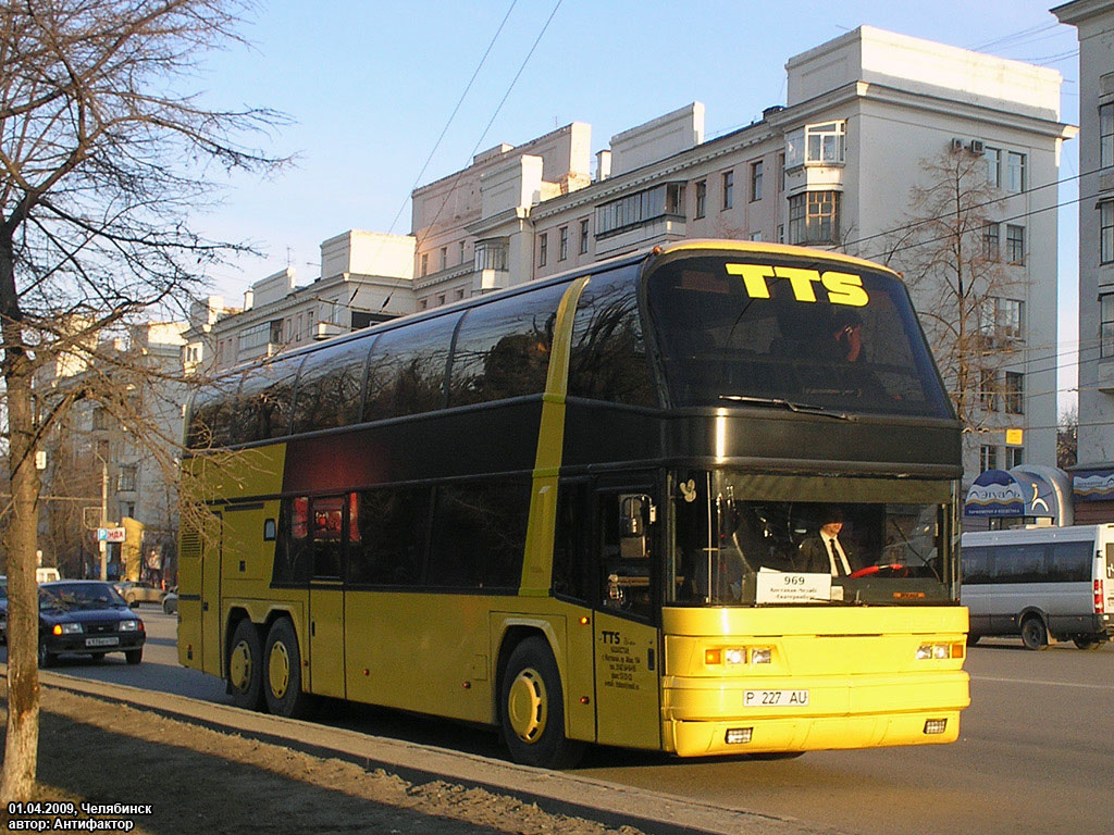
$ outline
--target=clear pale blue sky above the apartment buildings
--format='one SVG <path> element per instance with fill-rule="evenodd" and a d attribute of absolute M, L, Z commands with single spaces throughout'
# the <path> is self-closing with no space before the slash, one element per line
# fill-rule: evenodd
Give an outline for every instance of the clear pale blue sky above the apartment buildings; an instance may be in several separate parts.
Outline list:
<path fill-rule="evenodd" d="M 287 266 L 307 284 L 319 275 L 322 240 L 348 229 L 409 233 L 410 191 L 478 151 L 571 121 L 592 125 L 595 151 L 692 101 L 706 106 L 705 138 L 713 138 L 785 102 L 790 57 L 862 24 L 1058 70 L 1061 119 L 1077 125 L 1076 30 L 1049 8 L 1032 0 L 261 0 L 241 30 L 248 46 L 203 57 L 195 84 L 209 104 L 285 114 L 290 124 L 262 147 L 295 164 L 268 180 L 231 178 L 221 204 L 194 225 L 263 253 L 213 273 L 226 303 L 240 304 L 253 282 Z M 1067 143 L 1062 407 L 1075 385 L 1077 157 Z"/>

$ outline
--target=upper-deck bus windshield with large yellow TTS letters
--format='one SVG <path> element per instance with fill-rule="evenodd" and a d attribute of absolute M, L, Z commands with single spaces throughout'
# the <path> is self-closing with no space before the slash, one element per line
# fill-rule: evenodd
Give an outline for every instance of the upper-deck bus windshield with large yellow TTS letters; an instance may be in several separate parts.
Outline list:
<path fill-rule="evenodd" d="M 676 258 L 647 307 L 674 406 L 785 405 L 950 418 L 902 284 L 783 255 Z"/>

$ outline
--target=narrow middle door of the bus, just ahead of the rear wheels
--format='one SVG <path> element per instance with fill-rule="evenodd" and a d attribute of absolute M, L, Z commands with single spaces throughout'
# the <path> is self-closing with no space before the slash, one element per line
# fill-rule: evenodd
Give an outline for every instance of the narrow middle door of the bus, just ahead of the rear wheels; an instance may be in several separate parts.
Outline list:
<path fill-rule="evenodd" d="M 313 574 L 310 578 L 310 690 L 344 698 L 344 537 L 348 500 L 310 500 Z"/>

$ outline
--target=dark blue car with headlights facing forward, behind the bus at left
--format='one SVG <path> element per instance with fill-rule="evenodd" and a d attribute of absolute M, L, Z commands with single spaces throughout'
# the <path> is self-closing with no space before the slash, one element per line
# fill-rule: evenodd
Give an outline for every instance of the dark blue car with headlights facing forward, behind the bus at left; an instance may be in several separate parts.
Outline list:
<path fill-rule="evenodd" d="M 146 640 L 143 620 L 111 583 L 61 580 L 39 586 L 40 668 L 67 652 L 95 660 L 124 652 L 128 664 L 139 664 Z"/>

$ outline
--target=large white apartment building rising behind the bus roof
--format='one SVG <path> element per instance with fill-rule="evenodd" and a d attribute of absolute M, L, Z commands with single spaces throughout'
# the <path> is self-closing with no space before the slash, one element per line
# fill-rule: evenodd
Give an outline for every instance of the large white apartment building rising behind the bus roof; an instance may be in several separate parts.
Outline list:
<path fill-rule="evenodd" d="M 965 471 L 969 481 L 986 469 L 1054 465 L 1051 209 L 1061 144 L 1075 132 L 1059 120 L 1059 73 L 870 27 L 791 58 L 786 72 L 785 105 L 761 121 L 709 139 L 704 107 L 692 104 L 613 137 L 590 181 L 588 126 L 574 124 L 418 189 L 418 307 L 678 238 L 879 258 L 925 184 L 922 160 L 955 148 L 986 160 L 999 198 L 986 234 L 1013 278 L 990 316 L 1010 338 L 996 381 L 1006 396 L 988 399 Z M 1012 443 L 1007 429 L 1022 430 Z"/>

